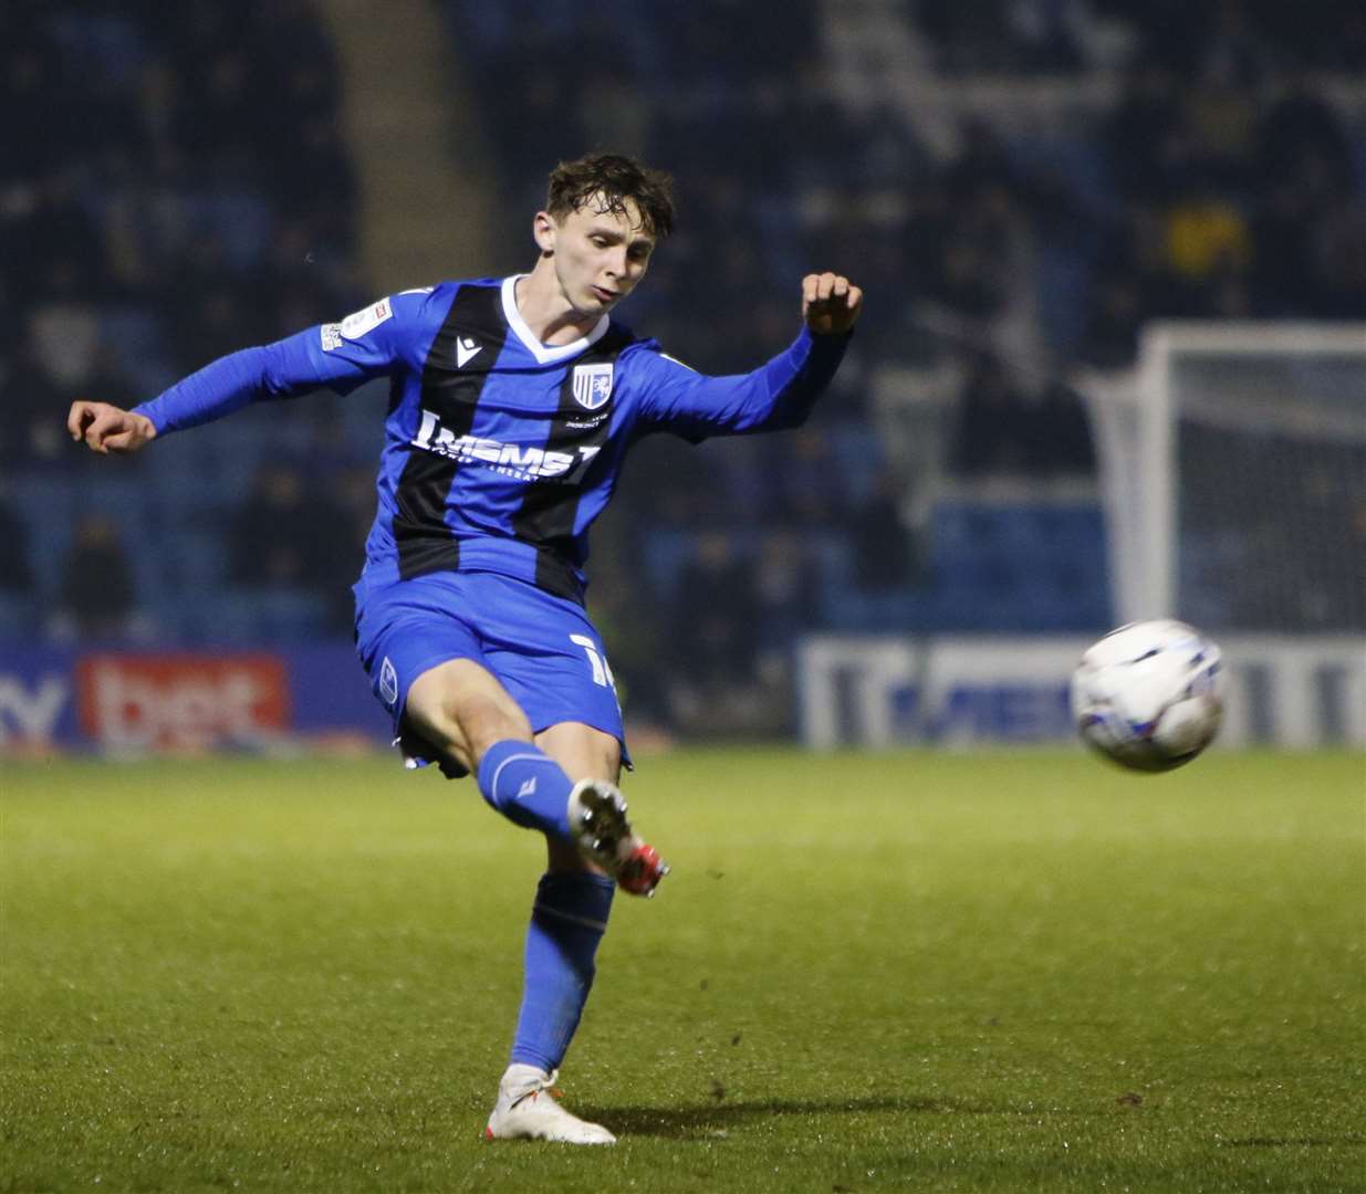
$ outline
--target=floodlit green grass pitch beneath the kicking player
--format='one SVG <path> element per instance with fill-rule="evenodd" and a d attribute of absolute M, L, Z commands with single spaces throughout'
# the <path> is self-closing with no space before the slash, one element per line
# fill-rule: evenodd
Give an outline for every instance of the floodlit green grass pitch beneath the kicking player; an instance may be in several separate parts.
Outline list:
<path fill-rule="evenodd" d="M 361 762 L 5 765 L 0 1190 L 1366 1189 L 1363 764 L 680 753 L 485 1145 L 537 840 Z"/>

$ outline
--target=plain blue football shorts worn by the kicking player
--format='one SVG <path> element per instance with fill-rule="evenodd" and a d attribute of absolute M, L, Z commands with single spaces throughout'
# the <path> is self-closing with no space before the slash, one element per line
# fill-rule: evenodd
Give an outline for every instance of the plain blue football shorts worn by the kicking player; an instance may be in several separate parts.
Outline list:
<path fill-rule="evenodd" d="M 612 669 L 581 605 L 497 572 L 362 575 L 354 592 L 357 653 L 406 755 L 433 757 L 411 743 L 403 720 L 408 689 L 437 664 L 463 658 L 499 679 L 533 731 L 582 721 L 616 738 L 630 765 Z"/>

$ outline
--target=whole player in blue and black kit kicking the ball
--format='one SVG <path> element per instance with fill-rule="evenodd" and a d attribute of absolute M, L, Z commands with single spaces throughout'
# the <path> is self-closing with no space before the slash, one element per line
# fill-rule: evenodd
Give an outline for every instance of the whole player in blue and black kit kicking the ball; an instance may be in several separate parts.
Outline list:
<path fill-rule="evenodd" d="M 67 421 L 96 452 L 134 452 L 251 402 L 389 378 L 378 514 L 355 585 L 361 663 L 408 765 L 473 773 L 549 848 L 490 1139 L 613 1142 L 549 1092 L 616 887 L 652 895 L 668 873 L 616 787 L 630 757 L 583 611 L 587 529 L 641 436 L 802 424 L 862 307 L 848 279 L 807 275 L 790 348 L 753 373 L 695 373 L 611 316 L 672 224 L 667 175 L 616 154 L 564 163 L 533 220 L 530 273 L 403 291 L 214 361 L 133 410 L 76 402 Z"/>

